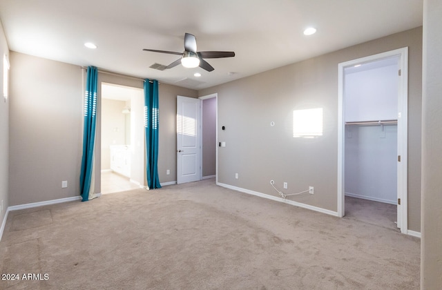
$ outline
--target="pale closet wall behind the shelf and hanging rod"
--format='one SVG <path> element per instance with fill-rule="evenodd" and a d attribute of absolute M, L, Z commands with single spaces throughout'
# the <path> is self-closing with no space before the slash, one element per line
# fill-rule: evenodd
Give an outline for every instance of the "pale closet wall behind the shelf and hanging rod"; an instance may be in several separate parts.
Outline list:
<path fill-rule="evenodd" d="M 396 204 L 398 58 L 345 70 L 345 195 Z"/>

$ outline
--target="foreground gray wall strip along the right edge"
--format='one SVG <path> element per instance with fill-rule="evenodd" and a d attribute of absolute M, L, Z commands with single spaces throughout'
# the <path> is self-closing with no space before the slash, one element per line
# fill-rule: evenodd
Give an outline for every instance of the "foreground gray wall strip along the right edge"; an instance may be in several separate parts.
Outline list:
<path fill-rule="evenodd" d="M 442 285 L 442 2 L 423 6 L 421 289 Z"/>

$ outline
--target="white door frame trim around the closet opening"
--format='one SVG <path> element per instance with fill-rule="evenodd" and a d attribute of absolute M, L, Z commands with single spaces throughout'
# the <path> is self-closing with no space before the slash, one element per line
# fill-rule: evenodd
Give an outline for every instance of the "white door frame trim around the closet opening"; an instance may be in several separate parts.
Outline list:
<path fill-rule="evenodd" d="M 345 189 L 344 189 L 344 153 L 345 153 L 345 103 L 344 103 L 344 69 L 369 61 L 399 57 L 401 77 L 398 85 L 398 155 L 401 162 L 397 162 L 397 190 L 401 205 L 398 205 L 398 227 L 401 233 L 407 233 L 407 112 L 408 112 L 408 48 L 398 48 L 388 52 L 370 55 L 360 59 L 345 61 L 338 64 L 338 216 L 345 215 Z"/>

